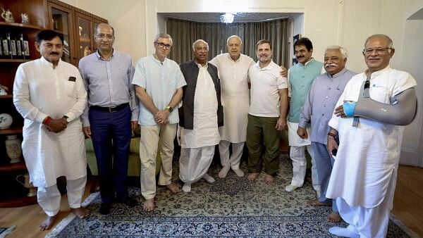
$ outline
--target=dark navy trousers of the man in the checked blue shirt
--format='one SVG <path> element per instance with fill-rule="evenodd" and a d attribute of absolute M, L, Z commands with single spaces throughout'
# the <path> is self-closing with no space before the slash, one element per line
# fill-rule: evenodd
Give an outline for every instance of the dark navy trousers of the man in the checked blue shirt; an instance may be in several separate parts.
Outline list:
<path fill-rule="evenodd" d="M 129 106 L 110 113 L 90 108 L 92 145 L 99 170 L 102 202 L 128 198 L 128 158 L 131 137 Z"/>

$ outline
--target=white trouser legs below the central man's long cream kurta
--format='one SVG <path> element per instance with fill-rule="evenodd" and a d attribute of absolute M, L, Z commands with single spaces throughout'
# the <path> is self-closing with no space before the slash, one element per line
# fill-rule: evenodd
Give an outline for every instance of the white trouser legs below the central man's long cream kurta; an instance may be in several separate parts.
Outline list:
<path fill-rule="evenodd" d="M 232 144 L 232 154 L 229 158 L 229 145 Z M 231 143 L 226 140 L 221 140 L 219 143 L 219 155 L 221 157 L 221 164 L 223 167 L 229 167 L 231 165 L 232 170 L 238 170 L 240 168 L 241 156 L 243 155 L 245 142 Z"/>

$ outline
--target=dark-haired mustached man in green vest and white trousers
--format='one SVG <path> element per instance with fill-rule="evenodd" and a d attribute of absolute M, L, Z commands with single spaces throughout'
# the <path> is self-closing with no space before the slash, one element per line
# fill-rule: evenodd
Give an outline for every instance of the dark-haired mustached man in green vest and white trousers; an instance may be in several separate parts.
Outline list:
<path fill-rule="evenodd" d="M 305 147 L 312 156 L 312 183 L 313 188 L 320 196 L 320 184 L 317 171 L 314 165 L 312 146 L 309 139 L 298 137 L 298 123 L 300 123 L 300 113 L 304 106 L 305 98 L 312 86 L 315 77 L 321 74 L 323 63 L 312 58 L 313 44 L 307 37 L 302 37 L 294 43 L 295 58 L 298 63 L 293 65 L 288 71 L 288 83 L 290 89 L 290 107 L 288 113 L 288 140 L 290 145 L 290 158 L 293 161 L 293 180 L 285 187 L 286 192 L 293 192 L 302 187 L 307 168 L 307 158 L 305 157 Z"/>

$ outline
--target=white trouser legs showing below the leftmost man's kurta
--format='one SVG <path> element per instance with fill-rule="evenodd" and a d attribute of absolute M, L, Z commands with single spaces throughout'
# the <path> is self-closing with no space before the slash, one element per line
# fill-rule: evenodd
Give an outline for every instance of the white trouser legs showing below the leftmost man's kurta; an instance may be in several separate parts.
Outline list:
<path fill-rule="evenodd" d="M 66 180 L 66 190 L 68 191 L 68 203 L 70 208 L 80 208 L 86 183 L 87 176 L 77 180 Z M 59 213 L 60 199 L 61 194 L 57 188 L 57 184 L 50 187 L 38 187 L 38 204 L 48 216 L 54 216 Z"/>

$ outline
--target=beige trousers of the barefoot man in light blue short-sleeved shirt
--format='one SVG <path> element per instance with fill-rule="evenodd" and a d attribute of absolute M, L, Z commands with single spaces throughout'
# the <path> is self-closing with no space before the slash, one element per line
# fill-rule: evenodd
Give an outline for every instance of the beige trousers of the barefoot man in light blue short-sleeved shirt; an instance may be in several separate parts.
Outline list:
<path fill-rule="evenodd" d="M 156 196 L 156 158 L 157 149 L 161 157 L 159 185 L 168 185 L 172 181 L 173 140 L 176 136 L 176 124 L 141 126 L 141 194 L 145 199 Z"/>

